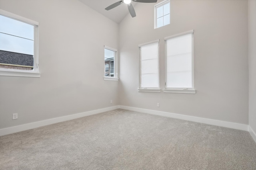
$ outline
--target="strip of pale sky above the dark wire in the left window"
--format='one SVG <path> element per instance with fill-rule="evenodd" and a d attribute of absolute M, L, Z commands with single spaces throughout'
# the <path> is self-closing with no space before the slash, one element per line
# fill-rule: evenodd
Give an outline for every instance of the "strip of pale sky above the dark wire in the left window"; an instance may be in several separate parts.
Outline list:
<path fill-rule="evenodd" d="M 0 15 L 0 32 L 34 40 L 34 26 Z"/>

